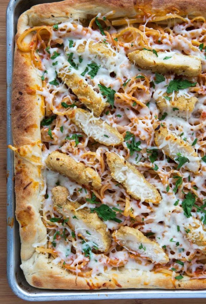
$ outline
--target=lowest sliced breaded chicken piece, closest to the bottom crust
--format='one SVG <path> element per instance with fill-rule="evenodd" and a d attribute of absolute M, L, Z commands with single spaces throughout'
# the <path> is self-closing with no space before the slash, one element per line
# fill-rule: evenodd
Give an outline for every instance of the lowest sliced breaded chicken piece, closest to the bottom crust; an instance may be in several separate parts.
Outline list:
<path fill-rule="evenodd" d="M 112 233 L 115 242 L 131 251 L 133 254 L 145 257 L 155 264 L 166 264 L 169 257 L 155 241 L 149 240 L 138 229 L 121 226 Z"/>

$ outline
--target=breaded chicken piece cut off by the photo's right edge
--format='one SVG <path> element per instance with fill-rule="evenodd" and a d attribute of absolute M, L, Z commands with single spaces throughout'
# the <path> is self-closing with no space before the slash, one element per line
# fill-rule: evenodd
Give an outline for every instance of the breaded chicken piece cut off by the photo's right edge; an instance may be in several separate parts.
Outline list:
<path fill-rule="evenodd" d="M 187 239 L 199 246 L 199 249 L 206 254 L 206 227 L 193 217 L 192 223 L 186 225 L 185 230 L 187 231 Z"/>

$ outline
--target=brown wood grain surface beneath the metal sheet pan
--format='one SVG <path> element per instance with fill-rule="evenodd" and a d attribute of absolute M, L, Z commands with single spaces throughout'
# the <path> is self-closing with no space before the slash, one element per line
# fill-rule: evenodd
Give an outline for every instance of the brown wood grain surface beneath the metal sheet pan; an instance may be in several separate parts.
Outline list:
<path fill-rule="evenodd" d="M 29 0 L 24 0 L 29 1 Z M 5 29 L 5 11 L 8 0 L 0 0 L 0 304 L 24 304 L 31 303 L 17 298 L 7 283 L 6 278 L 6 29 Z M 147 292 L 145 290 L 145 292 Z M 194 291 L 195 293 L 195 291 Z M 49 300 L 49 299 L 48 299 Z M 60 303 L 58 302 L 38 302 L 38 303 Z M 65 301 L 64 303 L 71 303 Z M 73 301 L 75 304 L 94 304 L 97 301 Z M 202 304 L 206 299 L 149 299 L 149 300 L 103 300 L 98 304 Z"/>

